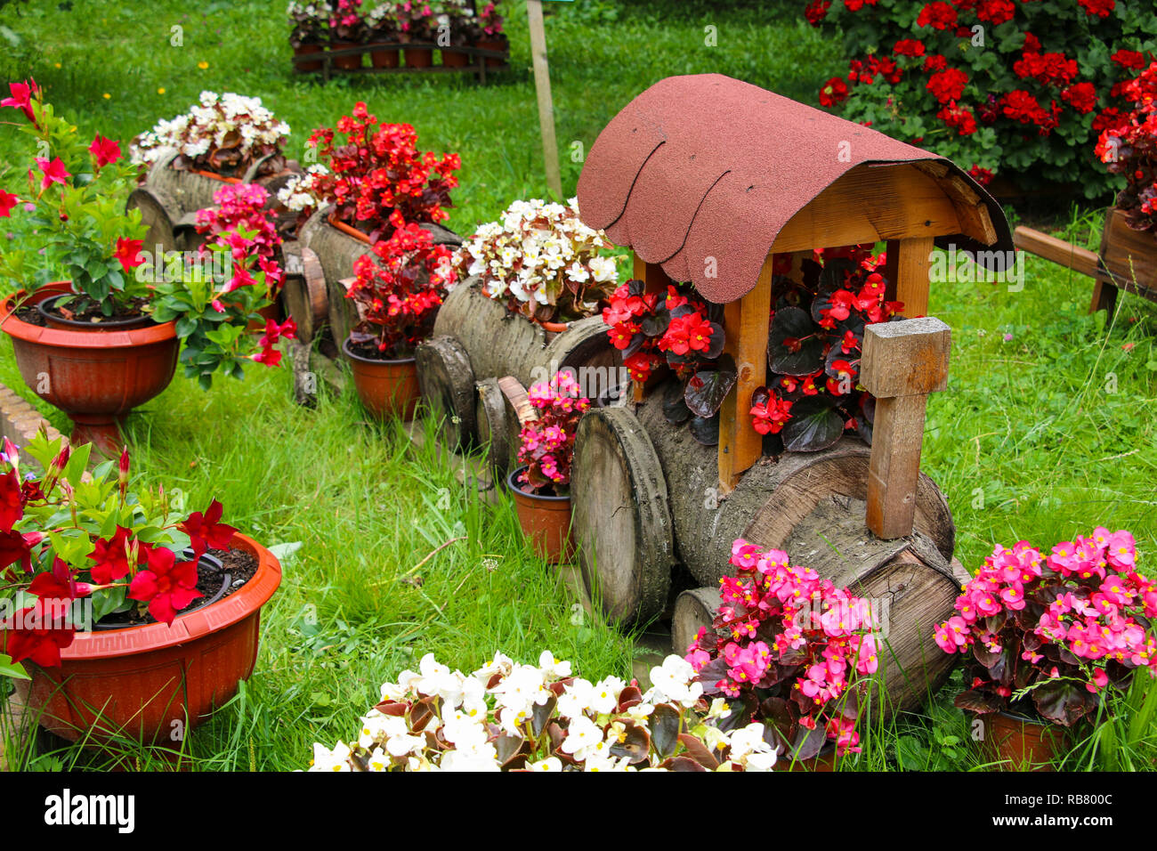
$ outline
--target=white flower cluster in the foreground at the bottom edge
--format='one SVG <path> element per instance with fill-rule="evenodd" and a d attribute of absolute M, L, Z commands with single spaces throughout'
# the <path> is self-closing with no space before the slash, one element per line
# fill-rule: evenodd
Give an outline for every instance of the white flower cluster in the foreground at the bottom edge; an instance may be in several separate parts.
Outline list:
<path fill-rule="evenodd" d="M 469 676 L 427 654 L 417 672 L 403 672 L 396 683 L 382 685 L 381 705 L 386 711 L 370 710 L 361 719 L 355 743 L 315 744 L 309 770 L 499 771 L 499 740 L 503 738 L 508 746 L 511 740 L 528 740 L 532 753 L 523 768 L 531 771 L 668 770 L 662 766 L 664 758 L 653 750 L 646 758 L 624 756 L 621 749 L 614 753 L 631 731 L 650 733 L 651 717 L 661 704 L 679 711 L 679 729 L 698 738 L 717 757 L 716 770 L 771 770 L 775 749 L 765 741 L 762 724 L 731 732 L 712 724 L 730 712 L 722 698 L 712 703 L 703 721 L 693 722 L 687 711 L 702 699 L 702 685 L 692 682 L 694 675 L 688 662 L 670 655 L 651 669 L 654 685 L 641 700 L 618 711 L 626 682 L 614 676 L 596 683 L 572 677 L 570 662 L 559 661 L 548 651 L 537 666 L 518 665 L 495 653 Z M 415 713 L 415 706 L 421 712 Z M 415 714 L 425 712 L 436 714 L 417 724 Z M 537 736 L 531 734 L 536 722 Z M 547 722 L 557 724 L 553 740 L 545 731 Z"/>

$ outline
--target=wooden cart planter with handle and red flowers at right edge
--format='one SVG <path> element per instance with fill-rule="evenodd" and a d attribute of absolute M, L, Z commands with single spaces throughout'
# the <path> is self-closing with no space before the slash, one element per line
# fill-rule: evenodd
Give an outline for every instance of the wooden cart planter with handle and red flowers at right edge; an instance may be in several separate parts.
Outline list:
<path fill-rule="evenodd" d="M 1133 109 L 1105 129 L 1095 153 L 1112 174 L 1123 175 L 1125 189 L 1105 214 L 1100 251 L 1093 252 L 1027 227 L 1016 229 L 1018 248 L 1086 274 L 1096 280 L 1089 313 L 1110 316 L 1121 289 L 1157 301 L 1157 63 L 1132 81 L 1122 94 Z"/>

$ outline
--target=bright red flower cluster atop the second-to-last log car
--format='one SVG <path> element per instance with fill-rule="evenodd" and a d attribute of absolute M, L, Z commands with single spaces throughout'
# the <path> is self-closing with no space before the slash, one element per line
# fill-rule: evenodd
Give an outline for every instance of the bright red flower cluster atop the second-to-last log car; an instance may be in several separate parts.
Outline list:
<path fill-rule="evenodd" d="M 418 151 L 418 133 L 408 124 L 382 124 L 359 102 L 337 130 L 346 144 L 334 146 L 334 132 L 315 130 L 309 144 L 329 162 L 331 174 L 317 175 L 312 190 L 336 208 L 337 218 L 359 225 L 377 241 L 407 222 L 440 222 L 451 206 L 457 154 L 439 159 Z"/>

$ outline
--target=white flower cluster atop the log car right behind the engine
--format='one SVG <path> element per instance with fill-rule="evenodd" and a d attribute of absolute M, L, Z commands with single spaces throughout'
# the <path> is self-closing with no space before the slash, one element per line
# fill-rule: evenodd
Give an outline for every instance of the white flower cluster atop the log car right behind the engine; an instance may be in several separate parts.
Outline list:
<path fill-rule="evenodd" d="M 578 200 L 568 206 L 540 199 L 515 201 L 500 221 L 489 222 L 455 255 L 466 274 L 480 276 L 492 299 L 555 305 L 570 281 L 580 292 L 610 293 L 617 285 L 614 259 L 598 251 L 610 242 L 578 219 Z M 596 309 L 598 298 L 576 307 Z"/>

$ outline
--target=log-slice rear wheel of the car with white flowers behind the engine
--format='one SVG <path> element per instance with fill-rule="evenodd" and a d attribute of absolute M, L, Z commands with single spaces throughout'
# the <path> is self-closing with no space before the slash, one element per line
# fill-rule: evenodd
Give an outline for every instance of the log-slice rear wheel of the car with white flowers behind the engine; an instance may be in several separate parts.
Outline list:
<path fill-rule="evenodd" d="M 418 383 L 432 416 L 442 418 L 442 442 L 469 449 L 478 439 L 474 420 L 477 393 L 470 357 L 454 337 L 432 337 L 418 346 Z"/>

